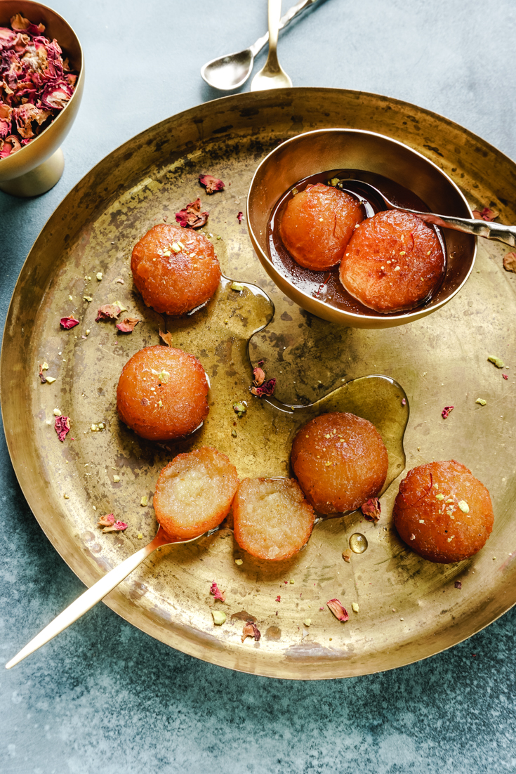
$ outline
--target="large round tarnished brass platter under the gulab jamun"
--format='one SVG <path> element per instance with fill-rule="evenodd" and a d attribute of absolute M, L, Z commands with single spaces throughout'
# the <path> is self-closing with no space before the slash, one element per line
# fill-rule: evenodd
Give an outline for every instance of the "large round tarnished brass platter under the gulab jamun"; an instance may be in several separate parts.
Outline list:
<path fill-rule="evenodd" d="M 511 361 L 516 277 L 502 268 L 507 248 L 481 241 L 468 283 L 438 312 L 402 327 L 360 330 L 313 317 L 282 296 L 261 269 L 244 222 L 237 221 L 255 167 L 275 144 L 333 126 L 405 142 L 446 171 L 473 208 L 488 205 L 500 211 L 501 221 L 516 222 L 514 163 L 445 118 L 355 91 L 237 94 L 149 128 L 77 184 L 29 253 L 2 347 L 2 413 L 12 464 L 46 535 L 87 585 L 152 539 L 153 482 L 178 450 L 217 446 L 242 478 L 288 474 L 292 413 L 248 393 L 252 330 L 258 333 L 250 341 L 251 360 L 265 359 L 268 375 L 278 379 L 275 396 L 287 406 L 321 398 L 323 406 L 337 399 L 352 405 L 360 382 L 342 387 L 343 381 L 381 374 L 398 390 L 395 407 L 381 409 L 388 425 L 392 416 L 402 416 L 404 393 L 395 382 L 402 385 L 410 403 L 407 468 L 455 458 L 490 490 L 494 532 L 472 560 L 436 565 L 400 542 L 391 524 L 398 478 L 382 498 L 379 526 L 356 513 L 322 522 L 305 550 L 277 564 L 239 551 L 225 529 L 156 552 L 105 600 L 128 622 L 192 656 L 292 679 L 360 675 L 411 663 L 478 632 L 516 601 Z M 207 197 L 200 190 L 196 181 L 203 172 L 224 180 L 223 194 Z M 221 283 L 203 310 L 167 321 L 173 344 L 199 356 L 207 368 L 212 406 L 193 439 L 159 447 L 121 426 L 114 408 L 121 366 L 142 346 L 158 344 L 165 324 L 134 292 L 129 259 L 145 231 L 163 217 L 173 222 L 174 213 L 198 195 L 210 212 L 206 231 L 214 235 L 224 274 L 252 284 L 240 293 Z M 268 296 L 275 307 L 269 324 Z M 132 334 L 94 322 L 97 308 L 116 300 L 142 320 Z M 60 317 L 70 313 L 80 325 L 60 330 Z M 487 362 L 491 354 L 511 368 L 495 368 Z M 43 361 L 50 366 L 46 375 L 56 377 L 53 384 L 39 382 Z M 479 397 L 487 405 L 477 404 Z M 232 403 L 241 399 L 248 400 L 248 411 L 238 418 Z M 453 412 L 443 420 L 441 411 L 449 405 Z M 71 418 L 63 444 L 53 430 L 54 408 Z M 402 426 L 405 420 L 398 420 Z M 106 429 L 91 431 L 99 422 Z M 398 469 L 402 461 L 398 444 Z M 143 495 L 149 496 L 147 507 L 140 505 Z M 97 516 L 108 512 L 128 522 L 123 535 L 96 528 Z M 355 532 L 367 537 L 369 547 L 348 564 L 341 552 Z M 236 558 L 243 563 L 235 564 Z M 224 604 L 209 594 L 213 580 L 226 592 Z M 455 587 L 456 580 L 462 588 Z M 349 622 L 333 618 L 326 608 L 330 598 L 342 601 Z M 358 613 L 351 611 L 352 602 L 359 603 Z M 227 614 L 220 627 L 213 625 L 214 606 Z M 241 643 L 248 619 L 257 622 L 260 642 Z M 26 632 L 27 639 L 34 633 Z"/>

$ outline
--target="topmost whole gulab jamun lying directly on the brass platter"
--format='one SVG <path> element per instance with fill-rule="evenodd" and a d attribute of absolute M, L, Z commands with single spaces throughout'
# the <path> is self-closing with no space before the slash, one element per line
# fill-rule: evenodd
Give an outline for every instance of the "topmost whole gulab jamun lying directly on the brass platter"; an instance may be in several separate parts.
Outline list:
<path fill-rule="evenodd" d="M 220 280 L 214 245 L 190 228 L 159 223 L 132 251 L 135 286 L 148 307 L 185 314 L 213 296 Z"/>

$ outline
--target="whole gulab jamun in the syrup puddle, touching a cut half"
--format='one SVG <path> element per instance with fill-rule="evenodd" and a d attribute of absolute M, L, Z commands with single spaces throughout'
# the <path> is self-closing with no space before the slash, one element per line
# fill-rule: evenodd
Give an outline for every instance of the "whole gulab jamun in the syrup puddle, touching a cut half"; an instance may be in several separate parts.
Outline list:
<path fill-rule="evenodd" d="M 298 431 L 292 469 L 319 513 L 354 511 L 385 483 L 388 455 L 376 427 L 354 414 L 320 414 Z"/>

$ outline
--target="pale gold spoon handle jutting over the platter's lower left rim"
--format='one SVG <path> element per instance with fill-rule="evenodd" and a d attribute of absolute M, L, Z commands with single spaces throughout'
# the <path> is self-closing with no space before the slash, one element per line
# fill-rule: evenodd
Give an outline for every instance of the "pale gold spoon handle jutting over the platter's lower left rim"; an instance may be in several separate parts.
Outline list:
<path fill-rule="evenodd" d="M 101 580 L 97 580 L 97 583 L 93 584 L 87 591 L 84 591 L 84 594 L 81 594 L 80 597 L 65 608 L 65 610 L 39 632 L 34 639 L 31 639 L 25 648 L 20 650 L 17 656 L 5 664 L 5 669 L 10 670 L 12 666 L 15 666 L 15 664 L 25 659 L 35 650 L 45 645 L 46 642 L 49 642 L 56 637 L 56 635 L 60 634 L 60 632 L 63 632 L 70 624 L 77 621 L 77 618 L 80 618 L 80 616 L 84 615 L 90 608 L 93 608 L 97 602 L 100 602 L 106 594 L 113 591 L 113 589 L 117 587 L 129 573 L 132 573 L 139 564 L 149 557 L 156 548 L 164 546 L 166 543 L 169 543 L 169 540 L 163 537 L 160 529 L 151 543 L 144 546 L 139 551 L 136 551 L 131 557 L 128 557 L 121 564 L 118 564 L 117 567 L 110 570 L 101 578 Z"/>

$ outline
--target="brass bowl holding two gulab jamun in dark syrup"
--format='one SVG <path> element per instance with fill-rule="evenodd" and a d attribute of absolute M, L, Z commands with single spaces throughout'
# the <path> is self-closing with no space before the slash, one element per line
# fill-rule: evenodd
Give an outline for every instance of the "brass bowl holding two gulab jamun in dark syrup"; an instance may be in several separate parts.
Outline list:
<path fill-rule="evenodd" d="M 329 128 L 306 132 L 283 142 L 258 166 L 248 194 L 248 230 L 255 252 L 268 276 L 299 307 L 349 327 L 389 328 L 419 320 L 443 307 L 459 293 L 470 276 L 477 254 L 477 239 L 443 229 L 448 262 L 439 292 L 429 303 L 398 314 L 359 314 L 337 309 L 296 287 L 272 263 L 268 251 L 268 221 L 286 190 L 305 177 L 328 170 L 373 172 L 411 190 L 429 211 L 473 217 L 466 198 L 436 164 L 402 142 L 361 129 Z"/>

